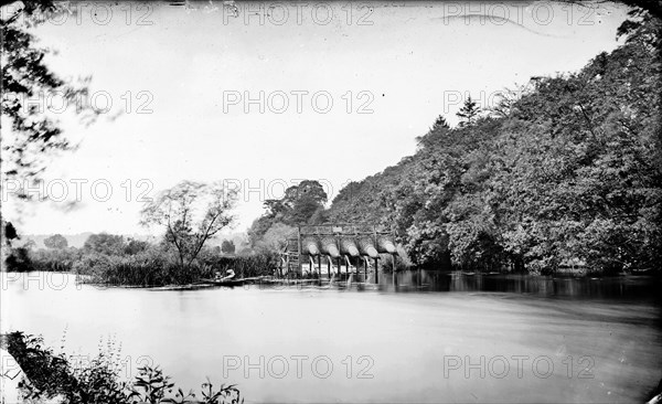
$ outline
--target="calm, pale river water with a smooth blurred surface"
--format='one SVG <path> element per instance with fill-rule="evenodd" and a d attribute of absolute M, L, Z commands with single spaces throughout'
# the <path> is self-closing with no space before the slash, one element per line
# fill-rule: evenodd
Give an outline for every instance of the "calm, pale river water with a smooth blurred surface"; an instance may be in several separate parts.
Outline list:
<path fill-rule="evenodd" d="M 382 276 L 377 290 L 97 288 L 0 274 L 1 329 L 252 402 L 642 402 L 662 378 L 660 281 Z"/>

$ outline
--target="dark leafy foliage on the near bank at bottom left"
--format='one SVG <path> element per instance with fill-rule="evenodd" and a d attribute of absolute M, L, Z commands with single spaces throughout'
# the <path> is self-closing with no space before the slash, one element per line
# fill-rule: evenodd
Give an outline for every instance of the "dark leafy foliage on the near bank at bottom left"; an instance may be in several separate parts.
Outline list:
<path fill-rule="evenodd" d="M 171 378 L 156 366 L 142 366 L 132 381 L 120 378 L 119 354 L 114 344 L 89 363 L 75 363 L 64 353 L 56 354 L 44 347 L 43 338 L 26 336 L 20 331 L 7 334 L 9 353 L 23 370 L 26 379 L 19 383 L 23 397 L 29 402 L 57 397 L 64 404 L 132 404 L 132 403 L 243 403 L 235 385 L 221 384 L 217 389 L 206 380 L 200 398 L 190 391 L 184 393 L 171 382 Z"/>

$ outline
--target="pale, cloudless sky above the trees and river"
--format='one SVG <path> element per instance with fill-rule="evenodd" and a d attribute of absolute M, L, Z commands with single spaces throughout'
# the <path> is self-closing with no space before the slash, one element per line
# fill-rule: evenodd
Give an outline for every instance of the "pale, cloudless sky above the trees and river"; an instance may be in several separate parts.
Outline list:
<path fill-rule="evenodd" d="M 242 187 L 232 231 L 244 231 L 286 187 L 318 180 L 331 200 L 413 155 L 469 95 L 489 107 L 532 76 L 581 68 L 618 46 L 627 17 L 611 3 L 350 6 L 71 3 L 34 33 L 54 71 L 92 76 L 84 102 L 102 114 L 85 126 L 75 105 L 36 100 L 77 149 L 33 189 L 45 201 L 19 206 L 6 183 L 3 214 L 23 234 L 156 234 L 139 225 L 146 200 L 222 181 Z"/>

